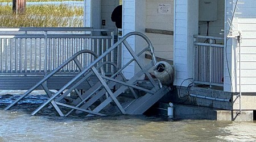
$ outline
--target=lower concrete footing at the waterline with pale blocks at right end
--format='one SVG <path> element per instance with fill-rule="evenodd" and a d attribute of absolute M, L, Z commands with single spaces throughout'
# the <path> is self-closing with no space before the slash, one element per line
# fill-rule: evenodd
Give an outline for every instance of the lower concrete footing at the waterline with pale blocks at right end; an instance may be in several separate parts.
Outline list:
<path fill-rule="evenodd" d="M 154 110 L 167 115 L 168 103 L 158 103 Z M 207 119 L 221 121 L 253 121 L 253 111 L 245 110 L 240 115 L 238 111 L 220 110 L 210 107 L 174 104 L 174 119 Z"/>

